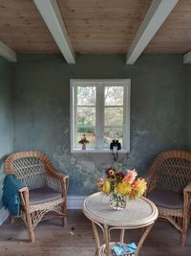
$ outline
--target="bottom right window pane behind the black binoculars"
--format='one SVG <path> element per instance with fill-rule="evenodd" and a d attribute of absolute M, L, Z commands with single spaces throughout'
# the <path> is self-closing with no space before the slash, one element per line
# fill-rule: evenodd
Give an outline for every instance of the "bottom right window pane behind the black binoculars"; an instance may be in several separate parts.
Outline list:
<path fill-rule="evenodd" d="M 109 148 L 115 139 L 122 145 L 122 128 L 104 128 L 104 148 Z"/>

